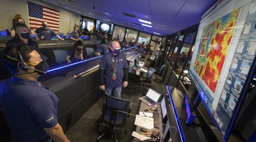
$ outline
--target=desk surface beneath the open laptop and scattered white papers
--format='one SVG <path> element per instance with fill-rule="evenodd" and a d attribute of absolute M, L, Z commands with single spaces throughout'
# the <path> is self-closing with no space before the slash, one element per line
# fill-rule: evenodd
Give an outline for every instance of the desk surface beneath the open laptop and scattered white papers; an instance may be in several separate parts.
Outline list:
<path fill-rule="evenodd" d="M 150 106 L 150 107 L 149 107 L 149 106 L 146 105 L 144 102 L 140 101 L 140 102 L 139 102 L 138 114 L 139 114 L 139 112 L 153 113 L 153 111 L 150 110 L 151 107 L 154 107 L 154 106 Z M 159 112 L 159 120 L 160 120 L 160 121 L 159 121 L 159 129 L 157 129 L 157 128 L 153 128 L 152 130 L 147 129 L 147 130 L 148 130 L 147 133 L 151 134 L 153 131 L 156 131 L 156 133 L 159 132 L 159 135 L 160 135 L 159 138 L 161 138 L 161 136 L 163 136 L 163 126 L 161 125 L 161 119 L 162 119 L 162 117 L 161 117 L 161 106 L 160 106 L 160 102 L 157 102 L 157 103 L 156 103 L 156 107 L 157 107 L 157 110 L 156 110 L 156 111 Z M 145 110 L 149 110 L 149 111 L 145 111 Z M 142 126 L 136 126 L 135 131 L 136 131 L 137 133 L 141 133 L 141 132 L 142 132 L 142 131 L 140 131 L 141 128 L 142 128 Z M 153 137 L 151 136 L 151 138 L 153 138 Z M 137 138 L 134 138 L 134 140 L 135 140 L 135 141 L 139 141 Z"/>

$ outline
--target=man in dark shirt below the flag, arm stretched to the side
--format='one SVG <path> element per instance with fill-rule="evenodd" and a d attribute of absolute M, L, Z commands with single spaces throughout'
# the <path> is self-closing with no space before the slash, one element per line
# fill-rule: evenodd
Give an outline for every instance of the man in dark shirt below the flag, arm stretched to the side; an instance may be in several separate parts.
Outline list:
<path fill-rule="evenodd" d="M 42 22 L 43 27 L 38 28 L 36 30 L 36 40 L 51 40 L 51 37 L 55 35 L 58 37 L 59 40 L 64 40 L 63 38 L 60 37 L 60 35 L 57 35 L 52 29 L 48 28 L 48 23 L 46 21 Z M 38 37 L 39 35 L 39 37 Z"/>

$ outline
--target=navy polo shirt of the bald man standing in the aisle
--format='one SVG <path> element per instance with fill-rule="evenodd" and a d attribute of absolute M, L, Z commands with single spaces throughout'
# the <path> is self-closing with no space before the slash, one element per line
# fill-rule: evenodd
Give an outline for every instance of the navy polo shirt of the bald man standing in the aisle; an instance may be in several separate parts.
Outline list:
<path fill-rule="evenodd" d="M 116 80 L 112 79 L 114 70 L 113 64 L 117 64 Z M 119 53 L 117 57 L 112 52 L 105 54 L 100 61 L 100 69 L 104 71 L 104 83 L 107 88 L 116 88 L 122 86 L 123 69 L 128 68 L 127 59 L 124 53 Z"/>

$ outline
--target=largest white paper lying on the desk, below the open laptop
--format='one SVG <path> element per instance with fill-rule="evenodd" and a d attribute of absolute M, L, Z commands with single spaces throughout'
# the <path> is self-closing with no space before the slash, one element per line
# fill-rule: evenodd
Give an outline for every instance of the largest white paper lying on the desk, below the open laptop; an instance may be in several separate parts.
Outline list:
<path fill-rule="evenodd" d="M 142 117 L 137 114 L 134 124 L 137 126 L 142 126 L 146 129 L 153 129 L 154 128 L 154 119 L 149 118 L 149 117 Z"/>

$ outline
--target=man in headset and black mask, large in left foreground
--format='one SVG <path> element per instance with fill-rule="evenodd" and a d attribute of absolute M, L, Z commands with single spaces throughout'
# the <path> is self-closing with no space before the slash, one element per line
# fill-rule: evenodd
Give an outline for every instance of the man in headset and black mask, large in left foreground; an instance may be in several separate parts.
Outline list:
<path fill-rule="evenodd" d="M 0 83 L 0 106 L 12 142 L 70 142 L 58 124 L 58 97 L 37 81 L 48 64 L 29 45 L 6 47 L 4 66 L 11 78 Z"/>

